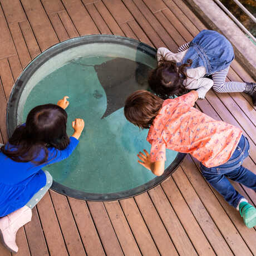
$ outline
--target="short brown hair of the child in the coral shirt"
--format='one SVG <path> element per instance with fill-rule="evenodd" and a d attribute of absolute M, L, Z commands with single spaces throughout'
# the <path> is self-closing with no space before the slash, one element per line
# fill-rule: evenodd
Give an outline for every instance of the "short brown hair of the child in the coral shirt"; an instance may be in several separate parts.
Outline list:
<path fill-rule="evenodd" d="M 125 101 L 125 117 L 141 129 L 147 129 L 154 121 L 163 102 L 163 99 L 149 91 L 135 91 Z"/>

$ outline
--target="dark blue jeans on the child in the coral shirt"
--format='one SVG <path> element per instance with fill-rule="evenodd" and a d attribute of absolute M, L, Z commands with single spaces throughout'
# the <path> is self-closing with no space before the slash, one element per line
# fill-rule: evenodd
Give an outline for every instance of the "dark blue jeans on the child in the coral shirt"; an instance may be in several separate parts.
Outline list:
<path fill-rule="evenodd" d="M 237 208 L 239 201 L 244 198 L 230 184 L 229 179 L 237 181 L 256 191 L 256 175 L 242 166 L 243 160 L 249 155 L 249 142 L 242 135 L 237 148 L 227 163 L 207 168 L 201 164 L 204 178 L 213 186 L 225 200 Z"/>

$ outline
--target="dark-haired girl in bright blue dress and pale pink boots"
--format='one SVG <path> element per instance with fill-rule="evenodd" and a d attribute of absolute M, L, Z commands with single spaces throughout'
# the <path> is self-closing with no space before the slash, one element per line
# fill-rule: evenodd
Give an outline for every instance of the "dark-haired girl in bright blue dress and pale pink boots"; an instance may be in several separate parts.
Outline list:
<path fill-rule="evenodd" d="M 55 104 L 32 109 L 26 124 L 18 126 L 0 150 L 0 237 L 5 247 L 17 253 L 16 233 L 32 217 L 31 209 L 45 195 L 52 177 L 42 168 L 70 156 L 84 127 L 82 119 L 72 122 L 66 133 L 67 96 Z"/>

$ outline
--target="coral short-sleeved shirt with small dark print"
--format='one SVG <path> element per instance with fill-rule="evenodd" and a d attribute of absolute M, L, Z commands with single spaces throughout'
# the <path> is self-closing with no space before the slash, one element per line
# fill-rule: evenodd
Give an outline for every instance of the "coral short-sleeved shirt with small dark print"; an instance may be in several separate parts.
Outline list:
<path fill-rule="evenodd" d="M 232 156 L 242 131 L 195 109 L 196 98 L 189 92 L 164 101 L 147 135 L 152 162 L 166 160 L 165 149 L 190 153 L 208 168 Z"/>

